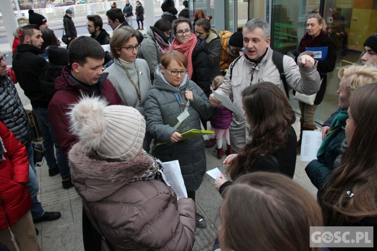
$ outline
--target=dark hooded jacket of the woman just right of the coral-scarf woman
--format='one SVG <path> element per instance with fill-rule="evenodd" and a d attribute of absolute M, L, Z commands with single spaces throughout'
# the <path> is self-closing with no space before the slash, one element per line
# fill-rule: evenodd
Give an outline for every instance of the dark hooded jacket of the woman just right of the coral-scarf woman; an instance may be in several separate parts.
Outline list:
<path fill-rule="evenodd" d="M 211 62 L 210 81 L 220 75 L 220 52 L 221 41 L 219 34 L 214 28 L 211 28 L 211 33 L 206 38 L 208 56 Z"/>

